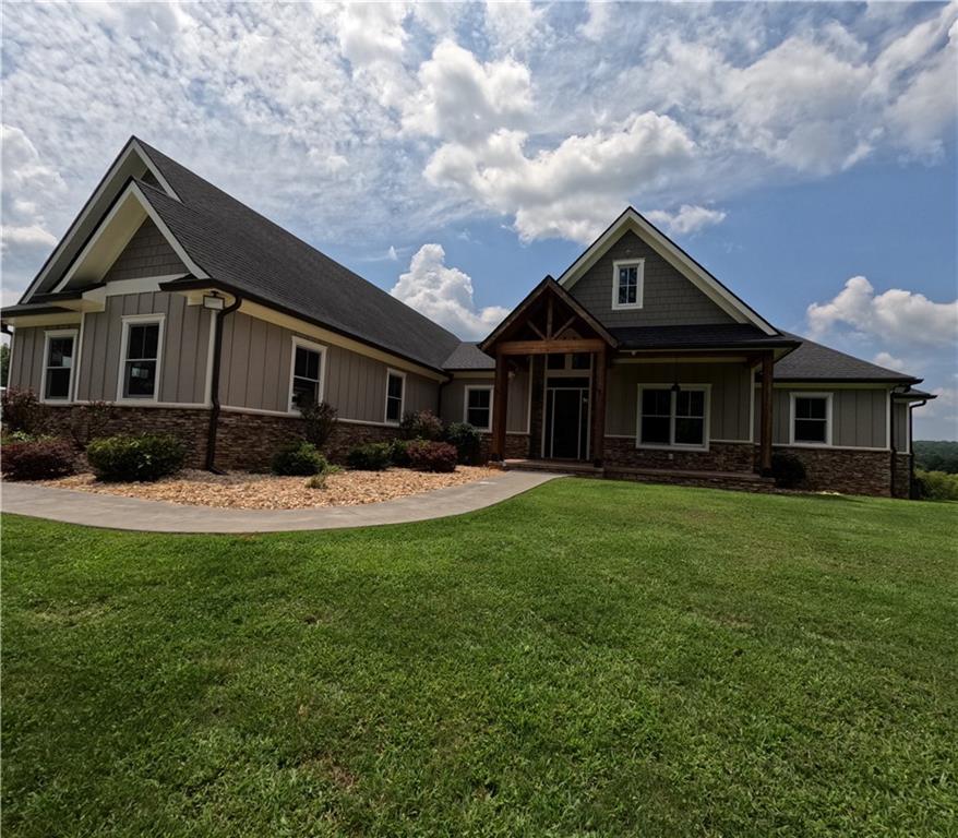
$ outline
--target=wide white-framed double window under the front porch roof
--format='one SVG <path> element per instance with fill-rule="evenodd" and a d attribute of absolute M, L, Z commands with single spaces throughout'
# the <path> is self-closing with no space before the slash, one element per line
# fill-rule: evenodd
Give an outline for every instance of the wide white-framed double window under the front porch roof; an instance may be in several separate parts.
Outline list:
<path fill-rule="evenodd" d="M 708 391 L 703 385 L 639 385 L 637 444 L 704 448 Z"/>

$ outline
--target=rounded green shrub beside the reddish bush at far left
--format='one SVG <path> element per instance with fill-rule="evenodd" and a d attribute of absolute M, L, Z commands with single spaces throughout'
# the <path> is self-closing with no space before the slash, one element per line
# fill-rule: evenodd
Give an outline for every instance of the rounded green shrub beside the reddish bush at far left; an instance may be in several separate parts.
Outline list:
<path fill-rule="evenodd" d="M 86 446 L 94 474 L 108 482 L 153 482 L 179 471 L 185 454 L 168 433 L 106 436 Z"/>

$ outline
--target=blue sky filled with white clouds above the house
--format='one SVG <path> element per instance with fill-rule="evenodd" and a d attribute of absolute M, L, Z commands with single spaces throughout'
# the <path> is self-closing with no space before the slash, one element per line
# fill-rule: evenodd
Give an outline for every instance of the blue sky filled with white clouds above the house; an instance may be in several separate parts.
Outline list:
<path fill-rule="evenodd" d="M 464 337 L 626 204 L 958 436 L 958 4 L 3 4 L 3 299 L 131 133 Z"/>

